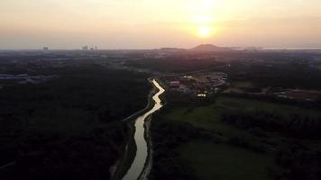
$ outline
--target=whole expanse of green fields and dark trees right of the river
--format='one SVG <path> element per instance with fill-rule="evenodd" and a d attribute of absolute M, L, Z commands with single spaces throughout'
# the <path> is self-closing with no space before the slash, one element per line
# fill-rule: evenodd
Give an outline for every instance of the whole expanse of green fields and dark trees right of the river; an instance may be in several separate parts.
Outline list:
<path fill-rule="evenodd" d="M 320 178 L 315 106 L 183 96 L 167 94 L 167 105 L 151 121 L 152 179 Z"/>

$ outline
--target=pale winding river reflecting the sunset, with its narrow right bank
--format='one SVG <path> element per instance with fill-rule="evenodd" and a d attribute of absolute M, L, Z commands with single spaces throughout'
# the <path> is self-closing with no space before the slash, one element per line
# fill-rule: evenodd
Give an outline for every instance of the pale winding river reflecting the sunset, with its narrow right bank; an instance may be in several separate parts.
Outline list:
<path fill-rule="evenodd" d="M 134 140 L 136 143 L 137 151 L 134 157 L 133 164 L 124 175 L 123 180 L 147 179 L 151 170 L 151 139 L 150 139 L 150 117 L 153 112 L 161 109 L 160 95 L 165 92 L 165 89 L 155 80 L 152 84 L 157 88 L 158 92 L 152 96 L 154 103 L 151 110 L 145 112 L 135 120 L 135 133 Z M 146 139 L 145 139 L 146 137 Z M 150 155 L 150 157 L 149 157 Z"/>

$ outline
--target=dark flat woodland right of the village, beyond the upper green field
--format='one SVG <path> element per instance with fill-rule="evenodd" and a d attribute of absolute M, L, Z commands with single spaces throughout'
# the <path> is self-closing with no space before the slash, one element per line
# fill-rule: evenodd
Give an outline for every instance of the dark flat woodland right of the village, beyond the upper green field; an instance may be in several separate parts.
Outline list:
<path fill-rule="evenodd" d="M 308 67 L 307 61 L 234 62 L 225 72 L 231 80 L 251 81 L 258 87 L 321 89 L 321 71 Z"/>

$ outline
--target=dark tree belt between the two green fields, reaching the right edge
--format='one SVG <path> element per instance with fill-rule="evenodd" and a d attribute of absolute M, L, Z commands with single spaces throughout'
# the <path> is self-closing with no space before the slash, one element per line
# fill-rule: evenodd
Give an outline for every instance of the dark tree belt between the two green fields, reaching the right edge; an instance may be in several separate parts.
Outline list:
<path fill-rule="evenodd" d="M 225 111 L 222 121 L 242 129 L 260 128 L 298 139 L 321 138 L 321 119 L 298 113 L 282 115 L 267 111 Z"/>

